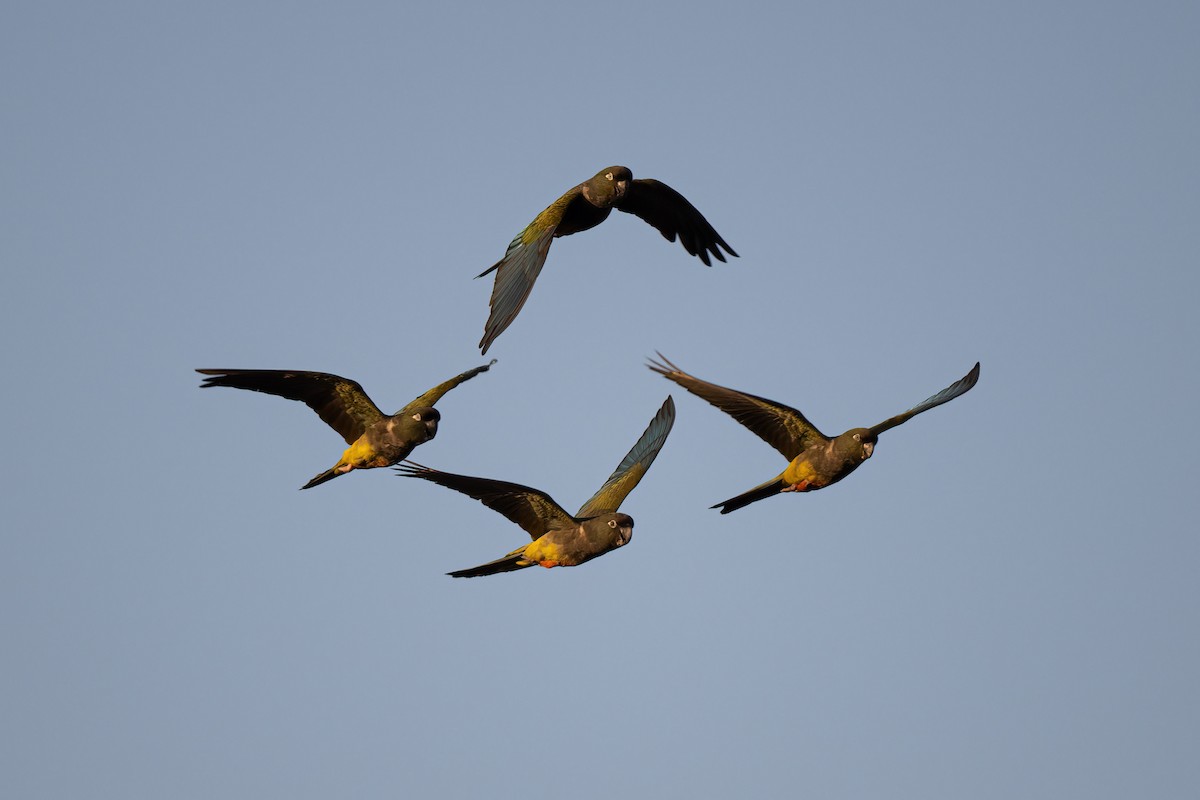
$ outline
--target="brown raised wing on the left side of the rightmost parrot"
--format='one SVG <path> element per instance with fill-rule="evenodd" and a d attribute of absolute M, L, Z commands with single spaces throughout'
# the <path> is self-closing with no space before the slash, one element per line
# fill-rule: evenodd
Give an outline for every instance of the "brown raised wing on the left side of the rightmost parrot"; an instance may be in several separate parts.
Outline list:
<path fill-rule="evenodd" d="M 647 365 L 650 369 L 721 409 L 788 461 L 809 447 L 823 446 L 829 441 L 828 437 L 817 431 L 816 426 L 794 408 L 701 380 L 667 361 L 661 353 L 658 356 L 662 361 L 650 359 Z"/>

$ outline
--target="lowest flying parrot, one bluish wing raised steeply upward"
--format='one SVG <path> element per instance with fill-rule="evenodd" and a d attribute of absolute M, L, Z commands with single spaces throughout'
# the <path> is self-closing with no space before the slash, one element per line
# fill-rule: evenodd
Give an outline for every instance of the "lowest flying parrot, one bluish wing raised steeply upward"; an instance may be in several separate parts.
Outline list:
<path fill-rule="evenodd" d="M 544 567 L 578 566 L 629 543 L 634 535 L 634 519 L 619 513 L 617 509 L 654 463 L 673 423 L 674 402 L 667 397 L 637 444 L 574 517 L 545 492 L 520 483 L 454 475 L 412 462 L 401 464 L 396 471 L 407 477 L 433 481 L 475 498 L 521 525 L 533 537 L 532 542 L 503 558 L 448 575 L 455 578 L 475 578 L 512 572 L 535 564 Z"/>

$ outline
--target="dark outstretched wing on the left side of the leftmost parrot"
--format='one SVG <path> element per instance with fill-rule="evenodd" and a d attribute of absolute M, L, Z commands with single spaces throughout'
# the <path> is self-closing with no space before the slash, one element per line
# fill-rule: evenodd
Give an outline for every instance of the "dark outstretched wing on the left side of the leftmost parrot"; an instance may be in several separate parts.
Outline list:
<path fill-rule="evenodd" d="M 300 401 L 317 411 L 325 423 L 337 431 L 346 444 L 354 441 L 384 413 L 367 397 L 356 380 L 331 375 L 328 372 L 295 372 L 290 369 L 197 369 L 205 378 L 203 389 L 233 386 L 253 392 L 278 395 Z"/>

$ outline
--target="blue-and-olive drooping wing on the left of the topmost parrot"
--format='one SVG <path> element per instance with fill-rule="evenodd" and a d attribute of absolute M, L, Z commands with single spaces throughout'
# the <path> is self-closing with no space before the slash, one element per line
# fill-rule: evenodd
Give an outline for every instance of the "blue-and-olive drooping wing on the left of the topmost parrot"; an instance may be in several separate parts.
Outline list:
<path fill-rule="evenodd" d="M 554 200 L 509 242 L 504 258 L 475 276 L 481 278 L 488 272 L 496 272 L 496 283 L 492 284 L 492 311 L 484 325 L 484 338 L 479 341 L 481 353 L 486 354 L 496 337 L 503 333 L 521 313 L 521 307 L 529 297 L 534 281 L 546 263 L 550 242 L 554 241 L 554 233 L 563 222 L 568 206 L 580 196 L 581 190 L 576 186 Z"/>

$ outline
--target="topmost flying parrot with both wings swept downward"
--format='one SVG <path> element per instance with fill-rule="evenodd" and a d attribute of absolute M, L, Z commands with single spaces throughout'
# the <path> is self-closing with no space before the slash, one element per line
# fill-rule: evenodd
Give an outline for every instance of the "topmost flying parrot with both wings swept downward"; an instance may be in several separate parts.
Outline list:
<path fill-rule="evenodd" d="M 683 248 L 691 255 L 698 255 L 706 266 L 712 266 L 709 253 L 720 261 L 725 260 L 722 247 L 730 255 L 737 255 L 683 194 L 653 179 L 635 181 L 628 167 L 606 167 L 534 217 L 509 243 L 504 258 L 475 276 L 481 278 L 496 271 L 492 312 L 479 343 L 484 353 L 521 312 L 541 265 L 546 263 L 550 242 L 557 236 L 595 228 L 613 209 L 637 215 L 658 228 L 667 241 L 678 236 Z"/>

